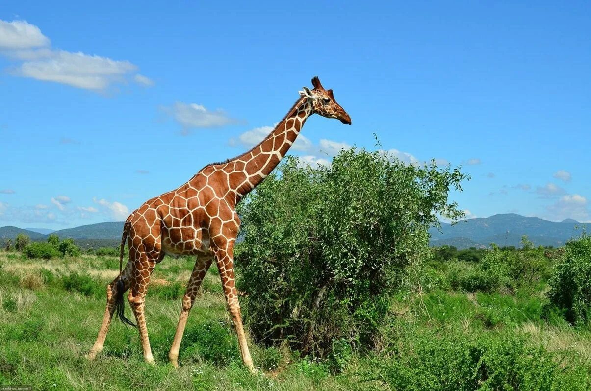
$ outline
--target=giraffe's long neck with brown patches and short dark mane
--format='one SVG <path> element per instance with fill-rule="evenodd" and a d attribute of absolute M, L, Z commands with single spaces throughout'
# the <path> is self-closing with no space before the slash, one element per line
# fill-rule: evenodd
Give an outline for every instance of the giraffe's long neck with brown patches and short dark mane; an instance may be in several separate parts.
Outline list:
<path fill-rule="evenodd" d="M 296 141 L 306 119 L 312 113 L 311 102 L 307 97 L 301 97 L 291 107 L 285 118 L 275 126 L 275 129 L 263 141 L 245 154 L 230 161 L 244 162 L 243 172 L 248 181 L 236 188 L 238 197 L 242 198 L 264 180 L 273 171 L 288 149 Z M 241 170 L 242 171 L 242 170 Z"/>

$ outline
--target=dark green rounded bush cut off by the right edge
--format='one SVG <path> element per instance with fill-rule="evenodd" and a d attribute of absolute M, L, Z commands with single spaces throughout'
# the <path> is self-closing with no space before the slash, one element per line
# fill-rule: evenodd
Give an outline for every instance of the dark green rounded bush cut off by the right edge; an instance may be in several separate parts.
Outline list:
<path fill-rule="evenodd" d="M 571 240 L 564 257 L 554 267 L 548 298 L 566 309 L 570 322 L 591 321 L 591 236 Z"/>

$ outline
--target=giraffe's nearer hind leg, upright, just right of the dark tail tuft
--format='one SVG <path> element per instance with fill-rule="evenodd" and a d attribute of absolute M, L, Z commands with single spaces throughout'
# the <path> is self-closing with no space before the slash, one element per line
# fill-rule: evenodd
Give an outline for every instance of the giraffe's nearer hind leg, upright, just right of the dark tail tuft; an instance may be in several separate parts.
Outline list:
<path fill-rule="evenodd" d="M 139 339 L 144 350 L 144 360 L 147 363 L 154 364 L 154 357 L 152 356 L 150 340 L 148 338 L 148 328 L 146 327 L 145 321 L 145 295 L 148 291 L 150 275 L 154 271 L 156 260 L 160 256 L 157 256 L 155 259 L 152 256 L 148 256 L 145 252 L 144 244 L 141 244 L 137 248 L 132 247 L 129 249 L 129 257 L 130 259 L 134 259 L 134 276 L 131 278 L 128 300 L 134 311 L 135 320 L 137 321 Z"/>

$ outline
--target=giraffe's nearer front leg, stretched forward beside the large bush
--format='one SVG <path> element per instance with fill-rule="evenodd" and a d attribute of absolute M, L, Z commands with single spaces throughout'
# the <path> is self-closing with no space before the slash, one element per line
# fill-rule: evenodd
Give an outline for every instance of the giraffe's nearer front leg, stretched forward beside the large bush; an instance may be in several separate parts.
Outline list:
<path fill-rule="evenodd" d="M 216 243 L 217 244 L 217 243 Z M 238 292 L 236 292 L 236 282 L 234 274 L 234 240 L 223 240 L 223 246 L 219 246 L 215 251 L 215 258 L 217 269 L 222 279 L 223 293 L 226 296 L 226 304 L 228 304 L 228 311 L 232 315 L 232 321 L 238 334 L 238 344 L 240 346 L 240 353 L 242 355 L 242 362 L 252 372 L 256 373 L 252 365 L 251 353 L 246 344 L 246 334 L 242 327 L 242 316 L 240 313 L 240 304 L 238 302 Z"/>

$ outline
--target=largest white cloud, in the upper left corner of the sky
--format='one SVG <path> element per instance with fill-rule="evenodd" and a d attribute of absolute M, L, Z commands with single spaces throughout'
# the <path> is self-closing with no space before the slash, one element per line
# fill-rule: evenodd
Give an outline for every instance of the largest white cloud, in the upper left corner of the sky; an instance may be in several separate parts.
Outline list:
<path fill-rule="evenodd" d="M 114 83 L 126 83 L 138 69 L 129 61 L 70 52 L 50 47 L 50 40 L 35 25 L 25 21 L 0 20 L 2 54 L 20 62 L 11 69 L 15 76 L 103 92 Z M 153 82 L 135 74 L 135 82 L 144 86 Z"/>

